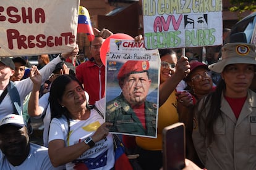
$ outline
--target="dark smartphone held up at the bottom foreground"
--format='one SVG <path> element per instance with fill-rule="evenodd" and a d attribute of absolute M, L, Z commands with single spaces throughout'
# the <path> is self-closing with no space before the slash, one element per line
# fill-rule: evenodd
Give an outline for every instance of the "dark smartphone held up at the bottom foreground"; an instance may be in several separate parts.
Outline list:
<path fill-rule="evenodd" d="M 186 142 L 184 123 L 174 123 L 163 129 L 163 169 L 185 168 Z"/>

